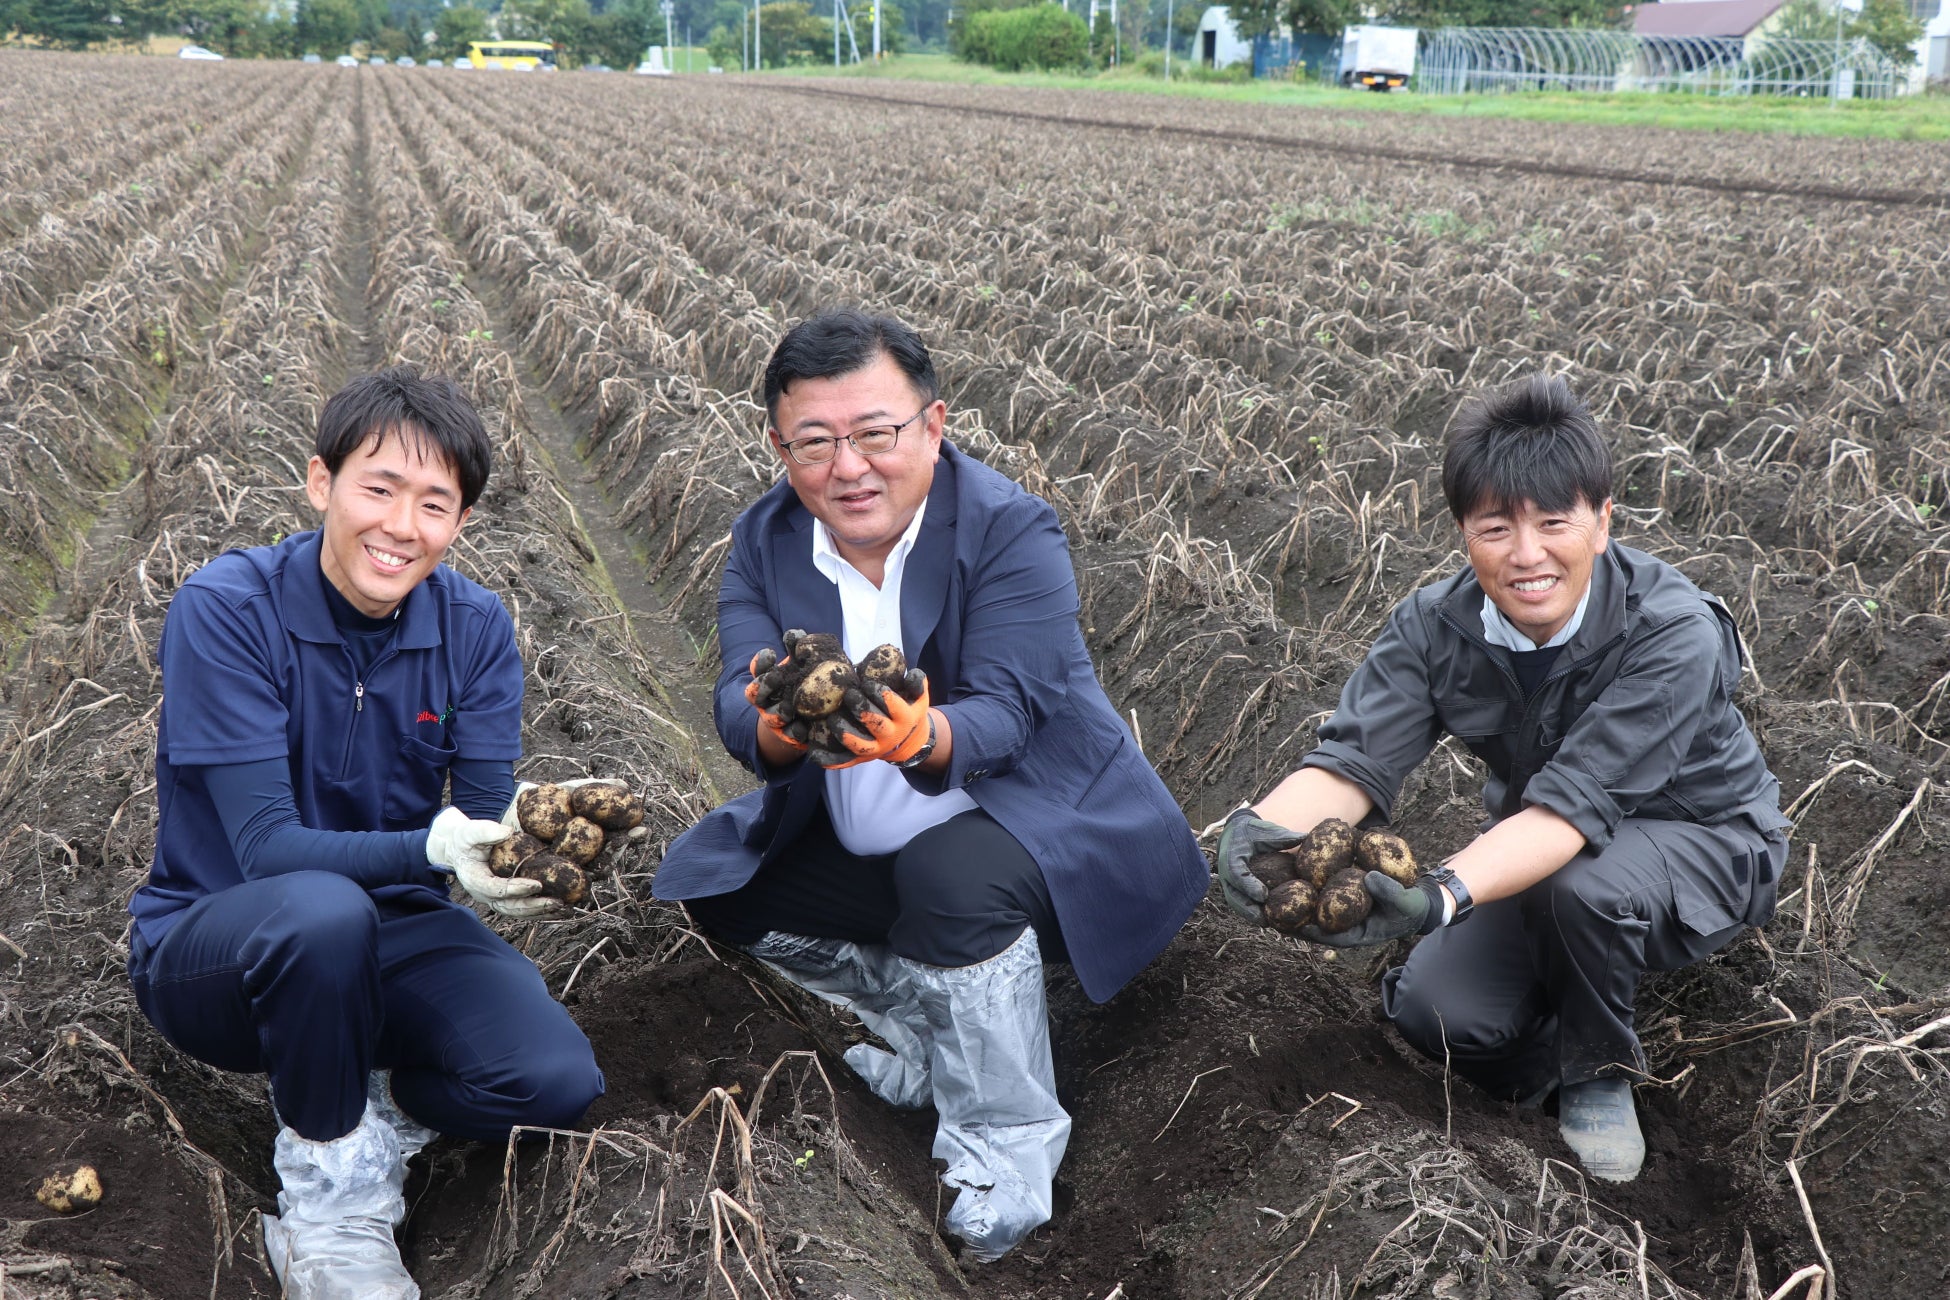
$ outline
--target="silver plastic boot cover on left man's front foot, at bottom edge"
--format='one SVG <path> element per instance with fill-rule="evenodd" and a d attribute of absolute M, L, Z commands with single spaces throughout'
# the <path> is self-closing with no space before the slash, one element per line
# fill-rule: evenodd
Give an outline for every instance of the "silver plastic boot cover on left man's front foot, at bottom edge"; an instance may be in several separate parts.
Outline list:
<path fill-rule="evenodd" d="M 263 1220 L 263 1247 L 289 1300 L 419 1300 L 392 1240 L 406 1218 L 400 1138 L 369 1105 L 333 1142 L 291 1128 L 273 1156 L 285 1189 Z"/>

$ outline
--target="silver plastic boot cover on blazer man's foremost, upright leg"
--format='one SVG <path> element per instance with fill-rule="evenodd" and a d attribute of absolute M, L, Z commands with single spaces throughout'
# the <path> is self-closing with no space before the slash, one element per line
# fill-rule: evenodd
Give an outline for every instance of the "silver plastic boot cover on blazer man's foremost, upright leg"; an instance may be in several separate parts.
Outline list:
<path fill-rule="evenodd" d="M 1057 1103 L 1043 1004 L 1043 951 L 1034 930 L 973 967 L 907 963 L 934 1031 L 934 1158 L 959 1187 L 948 1232 L 965 1259 L 989 1263 L 1055 1210 L 1057 1166 L 1071 1117 Z"/>

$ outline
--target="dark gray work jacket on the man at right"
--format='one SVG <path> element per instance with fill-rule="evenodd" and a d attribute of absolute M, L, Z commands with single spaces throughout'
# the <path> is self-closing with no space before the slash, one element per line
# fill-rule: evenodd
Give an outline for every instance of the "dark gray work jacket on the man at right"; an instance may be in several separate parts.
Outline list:
<path fill-rule="evenodd" d="M 1301 766 L 1353 782 L 1388 817 L 1447 731 L 1490 768 L 1490 821 L 1546 807 L 1593 850 L 1626 817 L 1788 826 L 1780 784 L 1734 707 L 1734 616 L 1679 569 L 1605 548 L 1585 620 L 1529 700 L 1482 635 L 1482 600 L 1470 569 L 1402 600 Z M 1773 889 L 1755 895 L 1771 910 Z"/>

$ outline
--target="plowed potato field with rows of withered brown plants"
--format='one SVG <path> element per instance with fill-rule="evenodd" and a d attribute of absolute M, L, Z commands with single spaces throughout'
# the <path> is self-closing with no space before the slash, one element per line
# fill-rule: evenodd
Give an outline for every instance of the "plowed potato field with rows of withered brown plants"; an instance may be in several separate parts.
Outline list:
<path fill-rule="evenodd" d="M 587 1132 L 441 1142 L 429 1296 L 1925 1300 L 1950 1288 L 1950 154 L 876 82 L 0 57 L 0 1294 L 275 1294 L 257 1078 L 140 1019 L 152 647 L 185 575 L 310 526 L 318 405 L 390 361 L 499 440 L 452 563 L 528 665 L 521 776 L 651 838 L 509 937 L 597 1045 Z M 745 787 L 725 530 L 792 320 L 895 312 L 950 437 L 1055 503 L 1102 676 L 1193 826 L 1312 743 L 1462 563 L 1457 398 L 1533 366 L 1617 440 L 1617 536 L 1739 616 L 1792 799 L 1778 916 L 1648 980 L 1650 1158 L 1585 1185 L 1381 1021 L 1379 957 L 1217 900 L 1123 994 L 1053 973 L 1055 1224 L 963 1269 L 860 1027 L 649 900 Z M 1439 854 L 1480 772 L 1402 805 Z M 107 1189 L 53 1216 L 86 1158 Z"/>

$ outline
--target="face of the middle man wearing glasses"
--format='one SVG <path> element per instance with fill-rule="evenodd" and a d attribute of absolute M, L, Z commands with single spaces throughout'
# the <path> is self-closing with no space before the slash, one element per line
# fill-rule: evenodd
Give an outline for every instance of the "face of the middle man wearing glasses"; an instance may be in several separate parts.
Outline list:
<path fill-rule="evenodd" d="M 911 419 L 920 411 L 918 419 Z M 786 462 L 786 478 L 800 503 L 833 534 L 835 550 L 868 579 L 879 581 L 881 565 L 934 485 L 942 454 L 948 405 L 924 403 L 899 364 L 885 353 L 850 374 L 794 380 L 778 398 L 772 448 Z M 862 456 L 844 439 L 862 429 L 901 425 L 891 452 Z M 840 439 L 833 460 L 801 466 L 782 442 Z"/>

